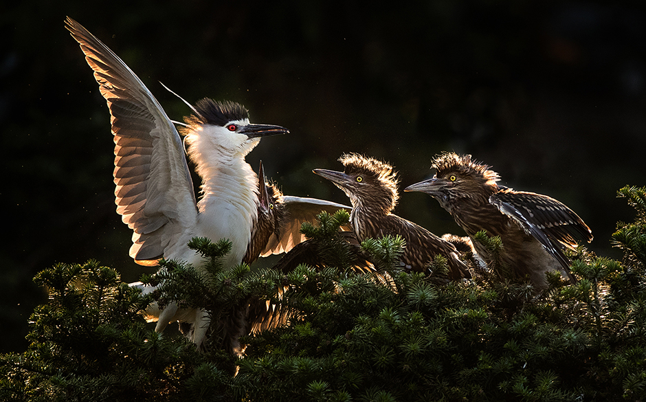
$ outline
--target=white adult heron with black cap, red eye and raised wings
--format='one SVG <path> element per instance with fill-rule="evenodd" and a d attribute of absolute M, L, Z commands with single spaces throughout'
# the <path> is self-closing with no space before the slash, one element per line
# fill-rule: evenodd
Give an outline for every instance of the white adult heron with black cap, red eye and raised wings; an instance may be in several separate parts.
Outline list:
<path fill-rule="evenodd" d="M 115 203 L 123 222 L 133 230 L 130 255 L 137 263 L 157 265 L 157 260 L 164 257 L 201 269 L 201 256 L 188 248 L 193 237 L 212 241 L 227 238 L 232 248 L 224 260 L 225 266 L 252 263 L 258 256 L 287 252 L 303 241 L 300 224 L 312 220 L 321 210 L 346 208 L 328 201 L 280 194 L 276 195 L 280 200 L 274 200 L 280 202 L 280 214 L 268 213 L 264 173 L 259 179 L 245 157 L 261 137 L 287 133 L 287 129 L 251 124 L 249 113 L 241 104 L 205 98 L 189 105 L 192 114 L 185 118 L 186 124 L 178 132 L 151 91 L 116 54 L 76 21 L 68 18 L 66 22 L 94 71 L 112 116 Z M 202 179 L 199 201 L 186 161 L 185 144 Z M 145 293 L 155 289 L 140 283 L 133 286 Z M 249 306 L 240 306 L 235 313 L 232 320 L 236 323 L 225 335 L 234 339 L 230 342 L 234 353 L 237 337 L 244 335 L 241 328 L 249 327 Z M 188 332 L 198 345 L 210 323 L 206 311 L 178 309 L 175 303 L 163 310 L 153 303 L 146 314 L 149 320 L 157 320 L 156 331 L 163 331 L 175 321 L 192 324 Z M 257 320 L 263 320 L 258 309 L 253 314 Z"/>

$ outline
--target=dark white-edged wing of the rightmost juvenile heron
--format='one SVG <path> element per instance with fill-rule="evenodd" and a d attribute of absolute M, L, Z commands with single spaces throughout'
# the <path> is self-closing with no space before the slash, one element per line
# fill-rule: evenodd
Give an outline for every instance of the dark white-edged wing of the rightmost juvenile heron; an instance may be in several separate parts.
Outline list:
<path fill-rule="evenodd" d="M 489 197 L 489 202 L 539 241 L 566 269 L 570 263 L 561 249 L 576 247 L 576 238 L 592 241 L 592 231 L 579 215 L 546 195 L 505 188 Z"/>

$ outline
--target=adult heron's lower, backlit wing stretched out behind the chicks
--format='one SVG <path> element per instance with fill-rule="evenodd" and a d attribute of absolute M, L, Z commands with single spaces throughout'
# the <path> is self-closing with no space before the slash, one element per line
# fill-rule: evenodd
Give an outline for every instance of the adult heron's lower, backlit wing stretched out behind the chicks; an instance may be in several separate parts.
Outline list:
<path fill-rule="evenodd" d="M 295 245 L 305 240 L 305 235 L 300 232 L 300 227 L 304 222 L 315 222 L 316 215 L 321 211 L 334 214 L 337 210 L 352 211 L 352 207 L 325 201 L 321 199 L 303 198 L 284 196 L 282 201 L 285 205 L 285 219 L 282 220 L 278 229 L 278 236 L 272 234 L 267 242 L 267 247 L 260 253 L 260 256 L 266 257 L 271 254 L 280 254 L 289 252 Z M 349 227 L 345 228 L 349 230 Z"/>

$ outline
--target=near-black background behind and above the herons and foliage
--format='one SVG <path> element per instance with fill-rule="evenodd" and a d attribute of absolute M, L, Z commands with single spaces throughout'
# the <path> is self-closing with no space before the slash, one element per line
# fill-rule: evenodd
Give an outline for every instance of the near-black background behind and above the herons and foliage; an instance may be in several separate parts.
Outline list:
<path fill-rule="evenodd" d="M 390 161 L 403 187 L 456 150 L 563 201 L 592 228 L 592 250 L 621 256 L 609 236 L 633 216 L 616 190 L 646 186 L 643 1 L 56 3 L 0 6 L 0 351 L 25 348 L 41 269 L 96 258 L 126 281 L 142 272 L 113 203 L 109 113 L 67 15 L 170 118 L 189 110 L 159 81 L 289 128 L 247 157 L 286 194 L 348 203 L 311 173 L 340 170 L 344 152 Z M 425 194 L 402 194 L 396 212 L 461 233 Z"/>

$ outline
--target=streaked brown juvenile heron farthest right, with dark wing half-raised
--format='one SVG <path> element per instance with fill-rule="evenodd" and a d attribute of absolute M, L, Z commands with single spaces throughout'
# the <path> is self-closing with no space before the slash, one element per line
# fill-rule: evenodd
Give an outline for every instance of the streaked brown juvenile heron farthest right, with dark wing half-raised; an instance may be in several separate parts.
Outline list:
<path fill-rule="evenodd" d="M 481 230 L 500 236 L 502 264 L 517 278 L 528 277 L 537 290 L 546 287 L 547 271 L 560 271 L 576 282 L 562 249 L 576 247 L 575 238 L 592 241 L 592 232 L 570 208 L 546 195 L 498 186 L 498 173 L 472 161 L 471 155 L 444 153 L 434 159 L 432 167 L 437 170 L 432 179 L 404 191 L 434 197 L 467 232 L 486 263 L 491 256 L 474 239 Z"/>

